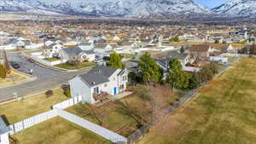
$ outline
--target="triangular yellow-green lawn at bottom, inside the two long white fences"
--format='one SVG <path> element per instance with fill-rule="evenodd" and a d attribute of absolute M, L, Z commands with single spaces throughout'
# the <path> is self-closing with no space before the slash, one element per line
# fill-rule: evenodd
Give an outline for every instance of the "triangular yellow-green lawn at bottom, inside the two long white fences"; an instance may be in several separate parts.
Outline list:
<path fill-rule="evenodd" d="M 63 118 L 52 118 L 11 135 L 19 144 L 111 144 L 99 135 Z"/>

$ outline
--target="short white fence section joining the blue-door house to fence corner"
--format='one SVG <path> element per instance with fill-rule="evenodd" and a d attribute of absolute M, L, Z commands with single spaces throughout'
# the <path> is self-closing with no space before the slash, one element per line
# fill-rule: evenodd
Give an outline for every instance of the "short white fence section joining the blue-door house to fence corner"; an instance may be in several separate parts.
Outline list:
<path fill-rule="evenodd" d="M 82 95 L 75 96 L 71 99 L 68 99 L 67 101 L 62 101 L 61 103 L 54 105 L 53 108 L 65 109 L 67 107 L 72 107 L 73 105 L 78 104 L 79 102 L 82 102 Z"/>

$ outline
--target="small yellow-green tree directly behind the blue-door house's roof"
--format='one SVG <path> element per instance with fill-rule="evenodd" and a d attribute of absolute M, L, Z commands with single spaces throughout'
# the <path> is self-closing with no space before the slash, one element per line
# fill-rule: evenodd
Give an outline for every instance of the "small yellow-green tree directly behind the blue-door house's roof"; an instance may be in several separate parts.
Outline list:
<path fill-rule="evenodd" d="M 116 52 L 110 54 L 108 66 L 113 68 L 125 68 L 124 64 L 122 63 L 120 55 Z"/>

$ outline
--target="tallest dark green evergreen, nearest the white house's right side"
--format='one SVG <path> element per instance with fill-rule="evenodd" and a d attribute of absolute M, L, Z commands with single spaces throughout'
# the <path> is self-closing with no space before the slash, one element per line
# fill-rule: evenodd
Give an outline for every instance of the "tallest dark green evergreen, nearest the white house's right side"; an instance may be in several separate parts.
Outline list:
<path fill-rule="evenodd" d="M 150 57 L 149 53 L 141 56 L 138 64 L 140 76 L 144 83 L 159 82 L 161 78 L 160 67 Z"/>

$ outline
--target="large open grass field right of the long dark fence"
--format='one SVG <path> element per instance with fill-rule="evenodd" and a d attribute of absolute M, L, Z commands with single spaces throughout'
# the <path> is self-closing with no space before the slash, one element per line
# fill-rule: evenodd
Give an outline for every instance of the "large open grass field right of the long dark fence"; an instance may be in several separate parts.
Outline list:
<path fill-rule="evenodd" d="M 138 144 L 255 144 L 256 59 L 241 59 Z"/>

